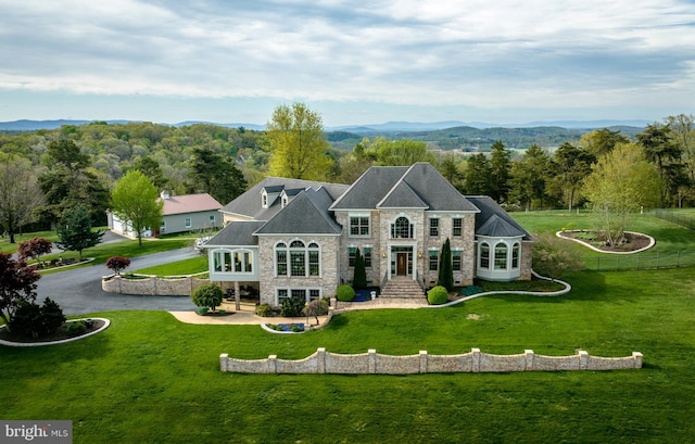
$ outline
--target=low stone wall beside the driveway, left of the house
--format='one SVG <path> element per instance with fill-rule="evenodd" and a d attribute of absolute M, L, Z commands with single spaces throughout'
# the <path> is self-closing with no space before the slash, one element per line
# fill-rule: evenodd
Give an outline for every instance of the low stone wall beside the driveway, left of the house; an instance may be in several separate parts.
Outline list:
<path fill-rule="evenodd" d="M 187 276 L 180 278 L 126 279 L 123 276 L 101 278 L 101 289 L 109 293 L 143 294 L 149 296 L 190 296 L 193 290 L 210 283 L 210 279 Z"/>

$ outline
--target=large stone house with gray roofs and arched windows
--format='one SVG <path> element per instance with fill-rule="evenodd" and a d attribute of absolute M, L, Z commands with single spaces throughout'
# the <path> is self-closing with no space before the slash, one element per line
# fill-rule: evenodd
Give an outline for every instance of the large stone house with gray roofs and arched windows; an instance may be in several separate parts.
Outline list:
<path fill-rule="evenodd" d="M 352 186 L 269 177 L 220 212 L 226 227 L 205 244 L 211 281 L 274 306 L 332 297 L 352 281 L 357 249 L 371 286 L 410 281 L 422 297 L 446 239 L 456 286 L 531 277 L 530 234 L 428 163 L 375 166 Z"/>

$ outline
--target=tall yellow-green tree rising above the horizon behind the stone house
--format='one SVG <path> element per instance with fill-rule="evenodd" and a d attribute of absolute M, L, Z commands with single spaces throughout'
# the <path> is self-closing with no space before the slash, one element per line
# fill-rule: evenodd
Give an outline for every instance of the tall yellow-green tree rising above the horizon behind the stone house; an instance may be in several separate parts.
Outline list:
<path fill-rule="evenodd" d="M 306 180 L 327 180 L 333 170 L 330 144 L 321 116 L 304 103 L 279 105 L 267 124 L 269 174 Z"/>

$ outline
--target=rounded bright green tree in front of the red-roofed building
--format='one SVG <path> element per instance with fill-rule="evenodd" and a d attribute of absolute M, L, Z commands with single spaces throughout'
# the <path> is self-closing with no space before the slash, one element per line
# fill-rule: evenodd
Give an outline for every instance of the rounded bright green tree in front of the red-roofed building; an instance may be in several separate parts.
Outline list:
<path fill-rule="evenodd" d="M 122 177 L 111 193 L 113 213 L 132 228 L 139 246 L 144 230 L 156 229 L 162 223 L 164 202 L 159 196 L 154 185 L 137 169 Z"/>

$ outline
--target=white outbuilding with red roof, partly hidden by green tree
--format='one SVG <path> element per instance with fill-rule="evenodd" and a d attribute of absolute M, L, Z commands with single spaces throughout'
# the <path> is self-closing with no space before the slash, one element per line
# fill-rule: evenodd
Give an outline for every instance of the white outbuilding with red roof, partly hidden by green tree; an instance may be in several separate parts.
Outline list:
<path fill-rule="evenodd" d="M 219 210 L 222 204 L 207 193 L 169 195 L 166 191 L 161 193 L 164 202 L 164 217 L 155 231 L 148 230 L 144 237 L 165 233 L 185 232 L 204 228 L 218 228 L 223 225 Z M 135 237 L 132 229 L 124 224 L 115 214 L 106 212 L 109 229 L 112 231 Z"/>

